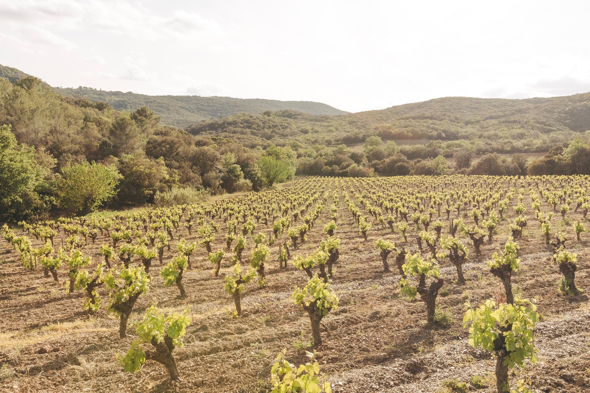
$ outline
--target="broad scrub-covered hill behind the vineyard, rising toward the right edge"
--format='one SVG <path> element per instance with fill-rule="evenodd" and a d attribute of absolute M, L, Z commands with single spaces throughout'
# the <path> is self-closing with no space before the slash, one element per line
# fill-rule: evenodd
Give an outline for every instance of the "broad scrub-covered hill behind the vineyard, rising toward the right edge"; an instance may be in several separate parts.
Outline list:
<path fill-rule="evenodd" d="M 590 130 L 590 93 L 523 100 L 444 97 L 345 116 L 292 111 L 237 114 L 196 123 L 187 130 L 194 135 L 230 137 L 248 146 L 292 139 L 353 145 L 378 136 L 440 141 L 437 145 L 442 149 L 469 145 L 477 153 L 535 152 Z"/>

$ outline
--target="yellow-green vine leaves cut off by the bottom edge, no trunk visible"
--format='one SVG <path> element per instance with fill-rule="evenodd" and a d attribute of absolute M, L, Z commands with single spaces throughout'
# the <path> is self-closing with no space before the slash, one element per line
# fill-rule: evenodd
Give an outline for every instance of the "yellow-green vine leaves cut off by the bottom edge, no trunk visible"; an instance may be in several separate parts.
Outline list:
<path fill-rule="evenodd" d="M 331 393 L 329 382 L 322 382 L 316 374 L 320 372 L 320 365 L 314 361 L 315 353 L 307 352 L 310 359 L 306 364 L 296 368 L 285 359 L 287 350 L 279 353 L 270 371 L 271 393 Z"/>

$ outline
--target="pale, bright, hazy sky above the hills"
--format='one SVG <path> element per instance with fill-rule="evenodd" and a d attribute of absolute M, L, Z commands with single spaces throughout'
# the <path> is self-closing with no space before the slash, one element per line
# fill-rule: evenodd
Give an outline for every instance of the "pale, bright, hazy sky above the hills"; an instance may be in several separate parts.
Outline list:
<path fill-rule="evenodd" d="M 590 91 L 588 1 L 0 0 L 0 64 L 51 86 L 320 101 Z"/>

